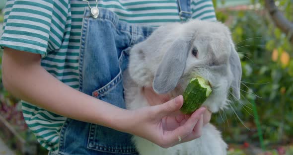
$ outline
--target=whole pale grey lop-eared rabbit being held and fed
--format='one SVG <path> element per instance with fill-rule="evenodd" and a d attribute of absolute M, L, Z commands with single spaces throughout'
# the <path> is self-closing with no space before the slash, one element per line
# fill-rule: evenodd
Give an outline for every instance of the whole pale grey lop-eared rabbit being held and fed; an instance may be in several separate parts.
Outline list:
<path fill-rule="evenodd" d="M 143 87 L 174 98 L 183 94 L 189 79 L 202 77 L 213 90 L 203 106 L 215 113 L 231 102 L 229 93 L 240 99 L 241 75 L 239 56 L 223 23 L 193 19 L 163 25 L 130 50 L 129 66 L 123 73 L 126 106 L 150 106 L 141 93 Z M 210 123 L 198 139 L 168 149 L 138 136 L 133 142 L 140 155 L 226 155 L 227 150 L 220 131 Z"/>

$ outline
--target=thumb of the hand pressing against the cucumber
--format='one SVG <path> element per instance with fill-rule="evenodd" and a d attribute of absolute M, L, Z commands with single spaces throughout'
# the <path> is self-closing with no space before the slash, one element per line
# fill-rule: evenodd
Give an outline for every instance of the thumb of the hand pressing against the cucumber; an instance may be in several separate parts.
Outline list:
<path fill-rule="evenodd" d="M 178 111 L 183 104 L 183 96 L 179 95 L 168 102 L 157 105 L 157 114 L 161 117 L 172 114 L 175 111 Z"/>

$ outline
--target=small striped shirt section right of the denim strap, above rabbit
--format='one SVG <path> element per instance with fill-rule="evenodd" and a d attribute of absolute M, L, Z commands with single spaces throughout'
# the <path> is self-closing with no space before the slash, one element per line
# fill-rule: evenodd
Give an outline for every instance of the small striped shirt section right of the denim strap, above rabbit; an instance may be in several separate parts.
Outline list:
<path fill-rule="evenodd" d="M 191 11 L 193 19 L 217 20 L 212 0 L 191 0 Z"/>

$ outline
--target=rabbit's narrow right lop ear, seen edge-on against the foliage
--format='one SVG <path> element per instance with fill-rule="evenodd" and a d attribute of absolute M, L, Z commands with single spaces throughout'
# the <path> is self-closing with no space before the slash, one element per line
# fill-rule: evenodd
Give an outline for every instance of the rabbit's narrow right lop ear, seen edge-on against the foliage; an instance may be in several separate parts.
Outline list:
<path fill-rule="evenodd" d="M 231 83 L 232 94 L 237 100 L 239 100 L 242 69 L 241 69 L 241 62 L 240 62 L 239 56 L 236 50 L 234 49 L 234 46 L 232 46 L 231 48 L 229 63 L 230 63 L 231 73 L 233 75 L 233 79 Z"/>

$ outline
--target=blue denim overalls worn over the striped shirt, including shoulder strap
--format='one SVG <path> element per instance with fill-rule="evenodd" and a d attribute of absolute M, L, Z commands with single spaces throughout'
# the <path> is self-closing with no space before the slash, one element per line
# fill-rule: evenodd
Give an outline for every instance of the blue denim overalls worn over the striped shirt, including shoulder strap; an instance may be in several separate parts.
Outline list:
<path fill-rule="evenodd" d="M 179 0 L 179 14 L 190 18 L 190 0 Z M 79 90 L 126 108 L 122 73 L 127 68 L 130 47 L 147 38 L 154 27 L 136 26 L 99 7 L 92 18 L 84 11 L 79 54 Z M 50 155 L 138 155 L 131 135 L 96 124 L 67 119 L 58 153 Z"/>

